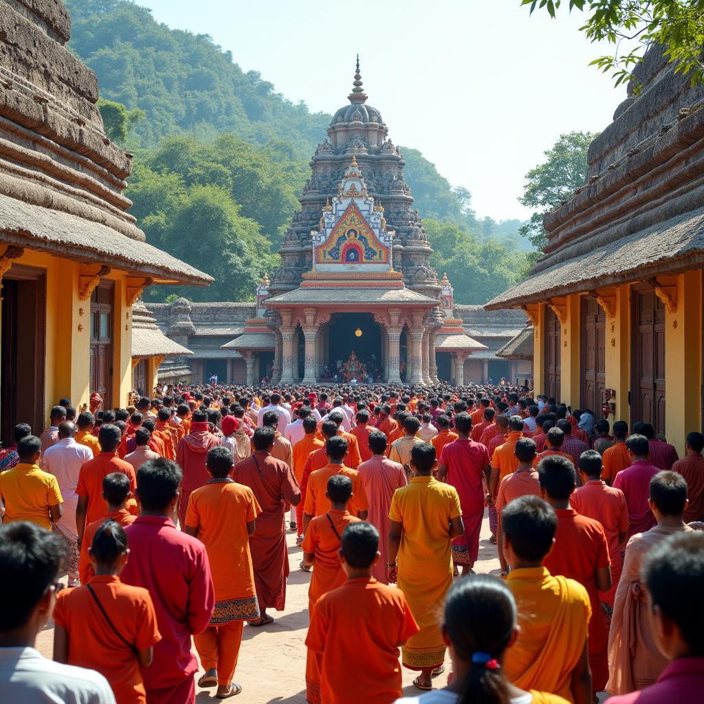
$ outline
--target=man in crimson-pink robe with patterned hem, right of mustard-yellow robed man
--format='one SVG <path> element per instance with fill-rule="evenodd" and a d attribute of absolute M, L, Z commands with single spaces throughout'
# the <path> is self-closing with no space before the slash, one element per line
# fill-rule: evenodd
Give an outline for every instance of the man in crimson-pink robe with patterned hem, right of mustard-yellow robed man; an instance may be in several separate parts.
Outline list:
<path fill-rule="evenodd" d="M 489 453 L 484 445 L 470 440 L 472 419 L 468 413 L 458 413 L 455 430 L 459 438 L 444 446 L 438 478 L 441 481 L 446 478 L 460 497 L 464 532 L 452 544 L 452 557 L 455 565 L 462 566 L 462 574 L 469 574 L 479 555 L 484 504 L 491 503 L 491 497 L 484 489 L 489 482 Z"/>

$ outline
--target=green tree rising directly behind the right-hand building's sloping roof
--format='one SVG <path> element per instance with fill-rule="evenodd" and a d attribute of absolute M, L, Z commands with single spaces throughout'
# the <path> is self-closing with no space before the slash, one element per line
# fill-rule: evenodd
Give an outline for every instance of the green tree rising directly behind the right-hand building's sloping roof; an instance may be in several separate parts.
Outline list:
<path fill-rule="evenodd" d="M 587 151 L 597 136 L 591 132 L 560 134 L 560 139 L 551 149 L 543 152 L 545 161 L 525 175 L 523 195 L 518 201 L 527 208 L 533 208 L 535 212 L 518 233 L 527 237 L 535 251 L 529 255 L 522 275 L 527 275 L 540 256 L 540 250 L 547 244 L 543 217 L 562 201 L 566 201 L 574 189 L 584 184 L 588 168 Z"/>

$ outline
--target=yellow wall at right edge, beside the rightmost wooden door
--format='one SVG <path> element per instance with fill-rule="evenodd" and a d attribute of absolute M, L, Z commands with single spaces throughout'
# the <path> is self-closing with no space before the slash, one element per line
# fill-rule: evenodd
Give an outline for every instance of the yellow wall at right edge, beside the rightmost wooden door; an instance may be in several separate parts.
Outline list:
<path fill-rule="evenodd" d="M 677 276 L 677 310 L 665 312 L 665 431 L 680 456 L 702 428 L 702 272 Z"/>

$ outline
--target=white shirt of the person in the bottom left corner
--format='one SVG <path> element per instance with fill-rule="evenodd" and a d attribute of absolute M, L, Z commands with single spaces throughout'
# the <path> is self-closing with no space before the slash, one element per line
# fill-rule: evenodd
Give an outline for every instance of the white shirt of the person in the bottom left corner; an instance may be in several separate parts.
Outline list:
<path fill-rule="evenodd" d="M 8 704 L 115 704 L 103 675 L 47 660 L 34 648 L 0 648 L 0 692 Z"/>

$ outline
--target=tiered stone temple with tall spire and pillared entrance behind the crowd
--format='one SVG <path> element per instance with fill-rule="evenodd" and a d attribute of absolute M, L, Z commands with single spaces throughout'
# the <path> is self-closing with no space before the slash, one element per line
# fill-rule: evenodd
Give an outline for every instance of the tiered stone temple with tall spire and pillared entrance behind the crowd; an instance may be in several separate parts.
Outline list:
<path fill-rule="evenodd" d="M 222 345 L 244 359 L 248 383 L 464 384 L 465 362 L 488 351 L 455 316 L 447 277 L 430 266 L 403 157 L 362 86 L 358 62 L 349 103 L 310 161 L 282 265 L 258 288 L 256 315 Z M 519 318 L 501 344 L 520 332 Z M 473 380 L 489 376 L 488 363 Z"/>

